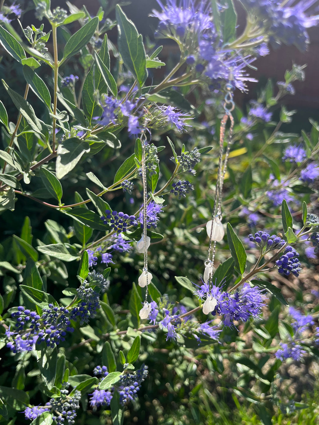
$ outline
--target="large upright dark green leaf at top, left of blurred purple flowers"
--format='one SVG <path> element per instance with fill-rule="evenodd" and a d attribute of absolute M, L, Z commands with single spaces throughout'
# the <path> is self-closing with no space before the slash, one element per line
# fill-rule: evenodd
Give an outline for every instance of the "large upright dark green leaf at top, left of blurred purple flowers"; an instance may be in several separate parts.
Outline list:
<path fill-rule="evenodd" d="M 126 17 L 118 4 L 115 16 L 118 28 L 118 47 L 123 62 L 137 79 L 139 86 L 142 87 L 148 75 L 142 35 L 138 34 L 134 23 Z"/>

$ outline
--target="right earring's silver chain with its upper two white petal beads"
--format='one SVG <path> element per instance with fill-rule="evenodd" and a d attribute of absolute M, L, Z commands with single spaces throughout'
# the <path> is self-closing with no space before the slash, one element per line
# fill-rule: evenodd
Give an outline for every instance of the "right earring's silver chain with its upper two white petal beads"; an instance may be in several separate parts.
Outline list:
<path fill-rule="evenodd" d="M 229 151 L 231 149 L 233 129 L 234 129 L 234 117 L 231 112 L 234 111 L 234 108 L 235 108 L 235 103 L 233 100 L 233 85 L 231 84 L 230 81 L 226 85 L 226 90 L 227 90 L 227 93 L 225 95 L 225 102 L 224 102 L 225 114 L 222 117 L 222 121 L 220 123 L 219 161 L 218 161 L 218 173 L 217 173 L 216 191 L 215 191 L 215 199 L 214 199 L 214 209 L 213 209 L 213 215 L 211 220 L 208 221 L 208 223 L 206 224 L 206 231 L 207 231 L 207 235 L 209 236 L 209 245 L 208 245 L 207 260 L 205 260 L 204 262 L 205 271 L 204 271 L 203 279 L 204 279 L 204 282 L 209 283 L 209 285 L 211 285 L 211 278 L 212 278 L 213 270 L 214 270 L 216 242 L 221 242 L 225 235 L 225 230 L 222 225 L 222 188 L 224 185 L 224 178 L 225 178 L 225 173 L 227 169 L 228 156 L 229 156 Z M 228 119 L 230 119 L 231 126 L 228 132 L 228 142 L 227 142 L 227 148 L 225 153 L 225 160 L 223 164 L 222 156 L 224 152 L 225 130 L 226 130 L 226 124 L 228 122 Z M 213 249 L 211 244 L 212 241 L 214 241 Z M 212 251 L 212 258 L 210 259 L 211 251 Z"/>

